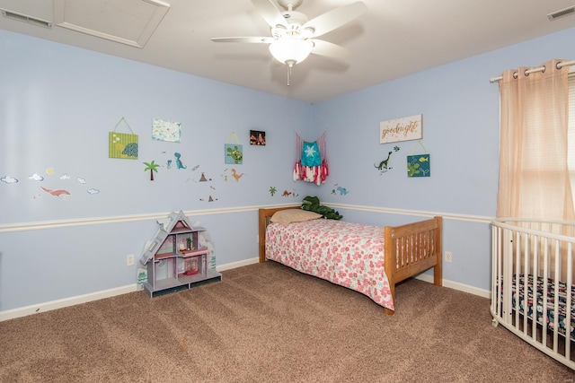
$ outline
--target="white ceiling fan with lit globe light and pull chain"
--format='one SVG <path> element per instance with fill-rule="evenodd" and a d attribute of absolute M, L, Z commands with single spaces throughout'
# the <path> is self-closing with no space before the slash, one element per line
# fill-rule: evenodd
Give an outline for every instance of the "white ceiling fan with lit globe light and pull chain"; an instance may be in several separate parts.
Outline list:
<path fill-rule="evenodd" d="M 212 41 L 270 44 L 271 56 L 280 63 L 288 65 L 288 85 L 291 68 L 304 61 L 310 53 L 326 57 L 347 56 L 347 49 L 316 38 L 340 28 L 367 11 L 366 4 L 358 1 L 309 20 L 304 13 L 295 11 L 303 0 L 277 0 L 277 2 L 286 11 L 280 11 L 273 0 L 252 0 L 252 4 L 263 19 L 270 24 L 270 37 L 213 38 Z"/>

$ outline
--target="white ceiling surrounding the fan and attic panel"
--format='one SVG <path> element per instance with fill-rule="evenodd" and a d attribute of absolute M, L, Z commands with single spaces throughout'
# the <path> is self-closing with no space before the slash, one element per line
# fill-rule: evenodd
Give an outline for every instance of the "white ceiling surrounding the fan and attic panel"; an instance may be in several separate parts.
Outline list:
<path fill-rule="evenodd" d="M 102 5 L 86 6 L 85 15 L 74 10 L 78 19 L 94 25 L 110 24 L 116 17 L 111 9 L 134 16 L 133 24 L 119 22 L 127 33 L 130 26 L 141 28 L 140 16 L 149 7 L 146 0 L 0 0 L 0 8 L 54 22 L 55 2 L 79 1 Z M 210 40 L 270 36 L 250 0 L 162 1 L 170 8 L 143 48 L 5 17 L 0 29 L 313 103 L 575 26 L 575 15 L 547 19 L 575 0 L 363 0 L 367 13 L 321 38 L 348 48 L 350 57 L 310 55 L 294 67 L 287 86 L 287 67 L 271 58 L 267 45 Z M 297 11 L 312 19 L 353 1 L 304 0 Z"/>

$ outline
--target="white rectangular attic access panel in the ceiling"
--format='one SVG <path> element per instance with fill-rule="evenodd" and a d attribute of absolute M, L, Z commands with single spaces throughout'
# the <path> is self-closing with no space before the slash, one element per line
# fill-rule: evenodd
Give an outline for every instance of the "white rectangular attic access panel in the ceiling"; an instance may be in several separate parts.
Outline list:
<path fill-rule="evenodd" d="M 54 24 L 143 48 L 169 9 L 160 0 L 54 0 Z"/>

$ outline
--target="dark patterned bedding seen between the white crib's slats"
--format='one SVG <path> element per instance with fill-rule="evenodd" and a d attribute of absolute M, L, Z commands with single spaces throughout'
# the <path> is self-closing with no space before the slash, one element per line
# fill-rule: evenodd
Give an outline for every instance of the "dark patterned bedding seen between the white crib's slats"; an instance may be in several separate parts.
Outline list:
<path fill-rule="evenodd" d="M 513 285 L 512 285 L 512 303 L 513 307 L 516 307 L 517 299 L 517 288 L 516 288 L 516 275 L 513 275 Z M 533 319 L 533 300 L 535 296 L 534 290 L 534 278 L 532 274 L 527 274 L 527 297 L 525 296 L 525 275 L 519 275 L 519 312 L 521 314 L 525 313 L 525 306 L 527 305 L 527 318 Z M 537 310 L 537 323 L 543 325 L 543 313 L 544 313 L 544 278 L 541 276 L 537 277 L 537 282 L 535 283 L 536 289 L 536 310 Z M 501 298 L 503 295 L 503 287 L 501 284 Z M 566 304 L 567 304 L 567 285 L 564 282 L 559 282 L 559 312 L 558 323 L 559 332 L 565 335 L 565 324 L 567 318 Z M 571 287 L 571 340 L 575 341 L 575 286 Z M 547 300 L 546 300 L 546 312 L 547 312 L 547 326 L 553 330 L 554 318 L 555 318 L 555 281 L 551 278 L 547 279 Z"/>

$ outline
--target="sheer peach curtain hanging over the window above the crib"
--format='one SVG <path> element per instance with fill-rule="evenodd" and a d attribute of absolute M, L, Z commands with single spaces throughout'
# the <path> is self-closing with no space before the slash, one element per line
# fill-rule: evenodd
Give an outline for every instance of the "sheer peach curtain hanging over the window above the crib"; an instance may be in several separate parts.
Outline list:
<path fill-rule="evenodd" d="M 498 217 L 575 221 L 568 169 L 569 67 L 500 80 Z M 514 77 L 517 75 L 517 78 Z"/>

